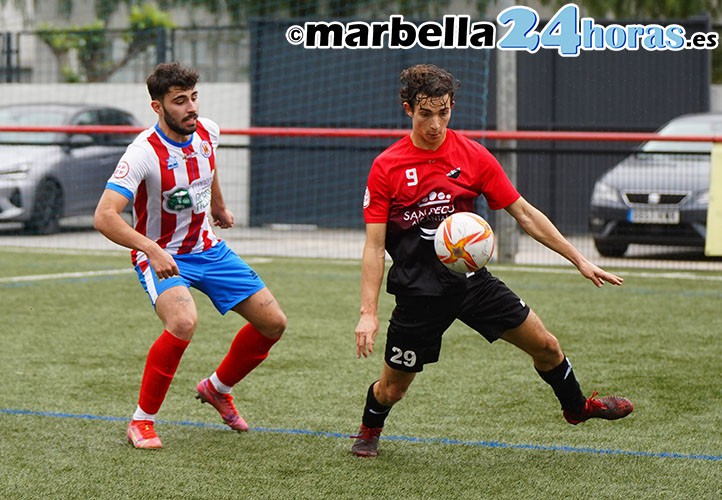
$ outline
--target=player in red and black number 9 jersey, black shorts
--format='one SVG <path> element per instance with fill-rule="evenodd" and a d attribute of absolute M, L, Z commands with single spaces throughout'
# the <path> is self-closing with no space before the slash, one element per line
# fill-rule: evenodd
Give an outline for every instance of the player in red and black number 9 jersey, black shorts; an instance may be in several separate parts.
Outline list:
<path fill-rule="evenodd" d="M 449 214 L 473 211 L 474 199 L 484 196 L 491 209 L 506 210 L 527 234 L 569 260 L 594 285 L 621 285 L 622 278 L 600 269 L 574 248 L 517 192 L 481 144 L 447 128 L 459 87 L 453 75 L 433 65 L 417 65 L 401 73 L 401 84 L 411 134 L 376 158 L 364 195 L 358 357 L 367 357 L 374 349 L 385 252 L 393 260 L 387 291 L 395 296 L 396 307 L 387 331 L 385 364 L 379 380 L 368 389 L 352 453 L 378 454 L 389 411 L 424 365 L 438 361 L 443 333 L 456 319 L 489 342 L 502 339 L 529 354 L 569 423 L 628 415 L 633 405 L 627 399 L 596 398 L 596 392 L 589 398 L 583 395 L 556 337 L 486 268 L 466 275 L 448 270 L 436 257 L 434 234 Z"/>

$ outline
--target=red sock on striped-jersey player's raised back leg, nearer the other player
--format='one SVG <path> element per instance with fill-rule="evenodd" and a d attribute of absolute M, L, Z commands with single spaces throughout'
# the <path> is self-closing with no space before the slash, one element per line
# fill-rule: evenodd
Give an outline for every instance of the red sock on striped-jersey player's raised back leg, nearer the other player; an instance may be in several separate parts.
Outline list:
<path fill-rule="evenodd" d="M 278 339 L 264 337 L 248 323 L 236 335 L 226 357 L 216 370 L 218 379 L 233 387 L 268 357 L 268 351 Z"/>

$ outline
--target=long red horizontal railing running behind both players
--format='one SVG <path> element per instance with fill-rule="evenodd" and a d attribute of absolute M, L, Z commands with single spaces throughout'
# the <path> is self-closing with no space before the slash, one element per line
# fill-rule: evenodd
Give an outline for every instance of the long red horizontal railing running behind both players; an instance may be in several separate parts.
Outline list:
<path fill-rule="evenodd" d="M 75 134 L 137 134 L 144 127 L 130 126 L 37 126 L 0 125 L 0 132 L 54 132 Z M 456 129 L 455 129 L 456 130 Z M 506 141 L 601 141 L 601 142 L 715 142 L 722 143 L 722 136 L 681 136 L 658 135 L 646 132 L 550 132 L 545 130 L 456 130 L 472 139 Z M 408 129 L 363 129 L 363 128 L 305 128 L 305 127 L 250 127 L 223 129 L 221 135 L 269 136 L 269 137 L 404 137 Z"/>

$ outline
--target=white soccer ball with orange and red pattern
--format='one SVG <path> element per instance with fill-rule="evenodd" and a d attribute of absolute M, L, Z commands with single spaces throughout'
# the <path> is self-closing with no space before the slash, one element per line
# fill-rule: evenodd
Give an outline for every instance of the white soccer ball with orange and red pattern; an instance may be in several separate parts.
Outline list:
<path fill-rule="evenodd" d="M 441 263 L 452 271 L 478 271 L 494 253 L 494 232 L 483 217 L 457 212 L 439 224 L 434 249 Z"/>

